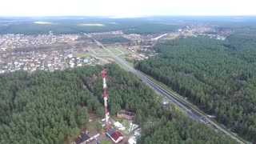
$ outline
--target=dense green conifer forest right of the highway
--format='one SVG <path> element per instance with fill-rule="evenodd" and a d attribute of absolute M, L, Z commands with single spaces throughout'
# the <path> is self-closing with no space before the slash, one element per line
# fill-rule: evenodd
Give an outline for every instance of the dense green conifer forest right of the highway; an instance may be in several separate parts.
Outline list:
<path fill-rule="evenodd" d="M 251 31 L 250 31 L 251 32 Z M 154 46 L 158 55 L 136 68 L 217 117 L 231 131 L 256 142 L 256 34 L 226 40 L 180 38 Z"/>

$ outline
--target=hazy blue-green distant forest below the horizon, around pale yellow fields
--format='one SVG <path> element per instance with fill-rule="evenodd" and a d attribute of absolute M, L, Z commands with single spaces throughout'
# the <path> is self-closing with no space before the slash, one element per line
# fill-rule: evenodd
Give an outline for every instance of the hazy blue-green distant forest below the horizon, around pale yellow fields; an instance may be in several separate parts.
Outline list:
<path fill-rule="evenodd" d="M 169 20 L 168 20 L 169 21 Z M 34 22 L 49 22 L 37 24 Z M 162 21 L 165 22 L 165 21 Z M 85 24 L 85 25 L 84 25 Z M 91 25 L 86 25 L 91 24 Z M 96 24 L 96 25 L 94 25 Z M 100 26 L 97 26 L 99 24 Z M 133 29 L 136 30 L 134 31 Z M 126 34 L 154 34 L 175 30 L 177 26 L 162 23 L 152 23 L 147 18 L 24 18 L 1 19 L 0 34 L 78 34 L 123 30 Z"/>

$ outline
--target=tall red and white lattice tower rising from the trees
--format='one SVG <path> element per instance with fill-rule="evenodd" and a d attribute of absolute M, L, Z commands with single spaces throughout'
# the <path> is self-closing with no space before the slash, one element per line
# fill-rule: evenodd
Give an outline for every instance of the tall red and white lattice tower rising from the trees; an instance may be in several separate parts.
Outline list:
<path fill-rule="evenodd" d="M 109 130 L 109 112 L 107 110 L 107 94 L 106 94 L 106 69 L 102 70 L 102 80 L 103 80 L 103 98 L 104 98 L 104 106 L 105 106 L 105 129 Z"/>

